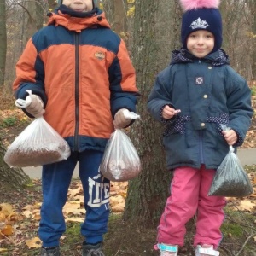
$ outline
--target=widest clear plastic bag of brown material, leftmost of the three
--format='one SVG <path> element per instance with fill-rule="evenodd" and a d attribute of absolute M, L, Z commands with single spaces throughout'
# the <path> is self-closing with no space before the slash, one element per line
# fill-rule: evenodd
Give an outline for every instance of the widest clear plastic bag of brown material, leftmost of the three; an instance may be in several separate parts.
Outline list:
<path fill-rule="evenodd" d="M 67 142 L 39 117 L 15 138 L 3 160 L 9 166 L 42 166 L 66 160 L 69 155 Z"/>

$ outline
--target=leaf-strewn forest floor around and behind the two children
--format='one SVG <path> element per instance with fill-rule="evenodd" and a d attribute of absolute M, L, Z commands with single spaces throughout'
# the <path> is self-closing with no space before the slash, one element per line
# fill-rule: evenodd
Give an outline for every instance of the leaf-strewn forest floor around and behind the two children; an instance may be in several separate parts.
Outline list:
<path fill-rule="evenodd" d="M 256 108 L 256 100 L 253 106 Z M 16 109 L 4 109 L 0 99 L 0 137 L 6 146 L 30 122 Z M 3 109 L 3 110 L 1 110 Z M 247 133 L 243 148 L 256 147 L 256 118 Z M 225 207 L 226 219 L 222 227 L 224 239 L 219 247 L 221 256 L 256 256 L 256 166 L 244 166 L 253 183 L 254 194 L 244 198 L 228 198 Z M 111 216 L 108 233 L 104 241 L 106 256 L 154 256 L 159 255 L 153 246 L 156 227 L 146 228 L 129 224 L 122 218 L 128 183 L 112 183 Z M 63 212 L 67 231 L 61 237 L 61 255 L 81 255 L 82 236 L 80 224 L 84 218 L 83 191 L 79 179 L 73 179 L 68 200 Z M 38 239 L 38 221 L 42 203 L 41 180 L 32 180 L 22 191 L 5 193 L 0 189 L 0 255 L 32 256 L 39 255 L 41 241 Z M 195 218 L 189 221 L 189 232 L 185 246 L 180 248 L 179 256 L 195 255 L 193 234 Z"/>

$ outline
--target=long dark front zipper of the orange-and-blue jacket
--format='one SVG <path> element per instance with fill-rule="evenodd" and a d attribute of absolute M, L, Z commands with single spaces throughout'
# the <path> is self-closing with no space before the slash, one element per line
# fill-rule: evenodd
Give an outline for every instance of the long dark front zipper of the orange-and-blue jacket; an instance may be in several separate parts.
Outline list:
<path fill-rule="evenodd" d="M 75 131 L 74 151 L 79 151 L 79 33 L 75 33 Z"/>

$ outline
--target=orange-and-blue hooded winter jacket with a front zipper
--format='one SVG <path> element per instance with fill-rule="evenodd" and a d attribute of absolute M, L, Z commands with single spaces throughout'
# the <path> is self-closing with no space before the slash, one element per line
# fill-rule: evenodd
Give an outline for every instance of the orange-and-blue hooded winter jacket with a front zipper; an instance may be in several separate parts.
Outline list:
<path fill-rule="evenodd" d="M 25 99 L 26 90 L 40 96 L 44 119 L 73 151 L 103 151 L 114 114 L 120 108 L 136 112 L 134 67 L 99 9 L 86 18 L 57 9 L 28 41 L 16 75 L 15 97 Z"/>

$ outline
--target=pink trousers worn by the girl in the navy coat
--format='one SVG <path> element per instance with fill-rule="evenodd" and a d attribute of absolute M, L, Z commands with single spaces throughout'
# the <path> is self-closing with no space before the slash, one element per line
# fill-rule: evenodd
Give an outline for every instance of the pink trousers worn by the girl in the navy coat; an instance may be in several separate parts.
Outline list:
<path fill-rule="evenodd" d="M 222 240 L 220 226 L 224 221 L 226 201 L 221 196 L 208 196 L 216 171 L 205 166 L 195 169 L 187 166 L 175 169 L 171 195 L 158 226 L 158 243 L 183 246 L 185 224 L 196 214 L 194 246 L 210 244 L 216 249 Z"/>

